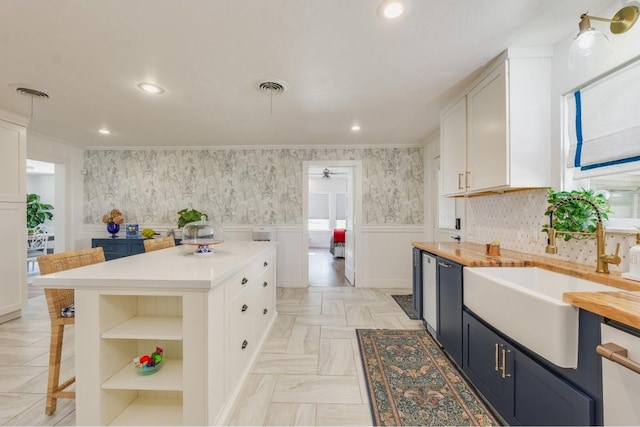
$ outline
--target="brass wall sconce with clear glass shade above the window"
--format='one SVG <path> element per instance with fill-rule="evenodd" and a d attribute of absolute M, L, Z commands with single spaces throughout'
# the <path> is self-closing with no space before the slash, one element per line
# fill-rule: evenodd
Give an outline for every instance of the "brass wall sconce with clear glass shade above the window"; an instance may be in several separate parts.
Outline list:
<path fill-rule="evenodd" d="M 622 34 L 633 27 L 640 14 L 636 6 L 623 7 L 612 19 L 591 16 L 587 13 L 583 13 L 580 16 L 580 23 L 578 24 L 580 32 L 573 40 L 569 50 L 569 68 L 572 70 L 598 65 L 611 54 L 609 39 L 604 33 L 591 27 L 591 19 L 610 22 L 609 29 L 611 33 Z"/>

